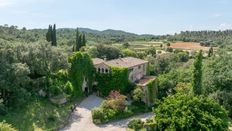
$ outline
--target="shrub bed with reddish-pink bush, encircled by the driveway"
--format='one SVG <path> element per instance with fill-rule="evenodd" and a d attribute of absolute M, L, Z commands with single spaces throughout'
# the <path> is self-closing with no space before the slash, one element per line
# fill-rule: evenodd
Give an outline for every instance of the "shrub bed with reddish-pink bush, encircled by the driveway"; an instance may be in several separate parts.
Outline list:
<path fill-rule="evenodd" d="M 119 92 L 111 91 L 108 98 L 102 102 L 101 106 L 91 111 L 93 122 L 95 124 L 103 124 L 151 110 L 142 102 L 135 102 L 127 106 L 125 98 L 126 97 Z"/>

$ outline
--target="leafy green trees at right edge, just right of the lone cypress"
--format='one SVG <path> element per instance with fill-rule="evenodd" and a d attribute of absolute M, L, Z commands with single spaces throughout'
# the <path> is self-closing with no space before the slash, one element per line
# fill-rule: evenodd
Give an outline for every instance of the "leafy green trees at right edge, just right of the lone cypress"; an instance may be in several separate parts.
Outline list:
<path fill-rule="evenodd" d="M 220 51 L 206 61 L 203 70 L 203 92 L 223 105 L 232 117 L 232 55 Z"/>

